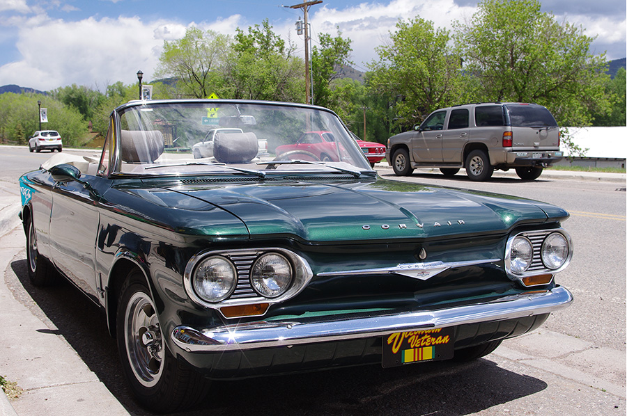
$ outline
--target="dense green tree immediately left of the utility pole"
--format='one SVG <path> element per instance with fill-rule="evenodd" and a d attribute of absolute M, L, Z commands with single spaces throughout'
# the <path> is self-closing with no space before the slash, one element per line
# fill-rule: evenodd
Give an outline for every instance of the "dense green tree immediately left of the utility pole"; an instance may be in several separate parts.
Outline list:
<path fill-rule="evenodd" d="M 265 19 L 261 26 L 238 29 L 221 97 L 304 102 L 302 59 L 293 56 Z"/>

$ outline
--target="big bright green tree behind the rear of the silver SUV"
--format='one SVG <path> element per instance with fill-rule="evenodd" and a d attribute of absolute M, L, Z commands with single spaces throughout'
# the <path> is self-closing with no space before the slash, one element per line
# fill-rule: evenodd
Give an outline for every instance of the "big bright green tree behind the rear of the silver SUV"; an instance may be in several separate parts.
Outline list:
<path fill-rule="evenodd" d="M 543 104 L 561 125 L 588 125 L 591 111 L 608 109 L 605 54 L 591 55 L 594 38 L 541 13 L 537 0 L 484 0 L 455 39 L 481 101 Z"/>

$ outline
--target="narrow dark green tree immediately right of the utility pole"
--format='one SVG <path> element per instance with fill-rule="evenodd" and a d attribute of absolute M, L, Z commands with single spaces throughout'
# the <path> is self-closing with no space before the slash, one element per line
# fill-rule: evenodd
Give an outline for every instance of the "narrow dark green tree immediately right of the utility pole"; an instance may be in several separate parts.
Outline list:
<path fill-rule="evenodd" d="M 350 39 L 343 39 L 342 33 L 332 38 L 328 33 L 320 34 L 320 47 L 314 46 L 311 51 L 311 67 L 314 77 L 314 104 L 329 107 L 332 105 L 331 95 L 333 82 L 339 79 L 337 70 L 344 65 L 352 64 L 348 57 L 353 51 Z"/>

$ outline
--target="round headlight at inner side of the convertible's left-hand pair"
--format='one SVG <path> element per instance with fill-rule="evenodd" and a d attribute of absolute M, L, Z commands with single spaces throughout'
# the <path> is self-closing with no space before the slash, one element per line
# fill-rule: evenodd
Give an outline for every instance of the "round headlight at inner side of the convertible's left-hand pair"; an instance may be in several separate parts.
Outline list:
<path fill-rule="evenodd" d="M 292 266 L 284 255 L 262 255 L 250 270 L 250 284 L 261 296 L 276 298 L 284 294 L 292 283 Z"/>

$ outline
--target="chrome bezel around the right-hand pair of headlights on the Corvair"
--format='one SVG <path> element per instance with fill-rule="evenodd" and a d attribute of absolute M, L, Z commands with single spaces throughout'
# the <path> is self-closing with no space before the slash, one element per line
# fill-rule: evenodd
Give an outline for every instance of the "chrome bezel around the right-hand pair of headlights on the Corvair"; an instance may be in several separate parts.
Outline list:
<path fill-rule="evenodd" d="M 554 233 L 561 234 L 561 236 L 564 237 L 564 240 L 566 241 L 566 244 L 568 246 L 567 248 L 568 254 L 566 255 L 566 259 L 564 260 L 561 266 L 555 269 L 551 269 L 544 263 L 544 260 L 542 258 L 542 247 L 543 247 L 545 240 Z M 513 246 L 514 240 L 518 237 L 523 237 L 523 238 L 528 239 L 532 243 L 532 246 L 533 246 L 532 262 L 525 269 L 525 271 L 521 273 L 517 273 L 516 271 L 512 270 L 512 267 L 511 267 L 511 250 L 513 248 L 512 246 Z M 507 276 L 511 280 L 517 280 L 518 282 L 521 283 L 521 285 L 527 286 L 527 285 L 524 285 L 524 283 L 522 283 L 522 278 L 532 276 L 532 275 L 540 275 L 540 274 L 555 275 L 555 273 L 559 273 L 560 271 L 566 269 L 566 266 L 568 266 L 568 264 L 571 262 L 572 257 L 573 257 L 573 241 L 571 240 L 571 237 L 568 235 L 568 233 L 562 228 L 551 228 L 548 230 L 518 232 L 516 234 L 512 234 L 509 237 L 509 239 L 507 239 L 507 243 L 505 246 L 505 257 L 504 257 L 505 271 L 507 273 Z"/>

